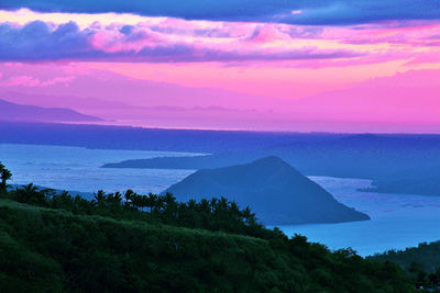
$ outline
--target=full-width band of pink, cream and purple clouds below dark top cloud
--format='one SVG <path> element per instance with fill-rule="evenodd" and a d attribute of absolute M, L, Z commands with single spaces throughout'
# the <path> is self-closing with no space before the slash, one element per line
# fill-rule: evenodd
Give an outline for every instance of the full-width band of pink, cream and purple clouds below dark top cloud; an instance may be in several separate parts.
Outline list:
<path fill-rule="evenodd" d="M 375 63 L 381 58 L 422 60 L 440 49 L 436 40 L 440 24 L 436 22 L 334 27 L 136 15 L 111 22 L 108 14 L 98 14 L 99 21 L 92 22 L 84 14 L 63 18 L 62 13 L 29 10 L 0 14 L 6 16 L 6 22 L 0 23 L 0 60 L 10 61 L 296 60 L 319 67 Z M 18 16 L 23 14 L 28 18 Z M 66 19 L 70 21 L 65 23 Z"/>

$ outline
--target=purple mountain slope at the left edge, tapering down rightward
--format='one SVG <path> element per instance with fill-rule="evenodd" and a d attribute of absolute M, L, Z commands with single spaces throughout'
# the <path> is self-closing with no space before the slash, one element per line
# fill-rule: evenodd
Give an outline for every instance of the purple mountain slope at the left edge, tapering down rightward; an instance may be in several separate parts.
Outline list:
<path fill-rule="evenodd" d="M 28 122 L 98 122 L 99 117 L 70 109 L 23 105 L 0 100 L 0 120 Z"/>

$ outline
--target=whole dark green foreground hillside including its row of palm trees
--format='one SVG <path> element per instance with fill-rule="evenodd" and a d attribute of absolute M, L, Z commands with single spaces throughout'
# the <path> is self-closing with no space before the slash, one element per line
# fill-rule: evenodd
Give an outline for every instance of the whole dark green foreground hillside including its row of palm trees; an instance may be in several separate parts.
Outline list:
<path fill-rule="evenodd" d="M 4 170 L 4 168 L 2 167 Z M 0 176 L 3 172 L 0 168 Z M 10 176 L 8 176 L 10 178 Z M 8 179 L 9 179 L 8 178 Z M 4 292 L 413 292 L 394 262 L 266 229 L 226 199 L 0 188 Z"/>

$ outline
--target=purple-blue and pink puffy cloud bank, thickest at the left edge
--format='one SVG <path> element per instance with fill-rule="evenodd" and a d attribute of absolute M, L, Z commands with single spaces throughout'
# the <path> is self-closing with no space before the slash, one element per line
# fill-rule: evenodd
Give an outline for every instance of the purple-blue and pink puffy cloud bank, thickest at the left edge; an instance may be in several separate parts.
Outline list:
<path fill-rule="evenodd" d="M 272 41 L 292 41 L 295 35 L 309 35 L 312 32 L 283 32 L 276 27 L 267 31 L 255 26 L 244 27 L 246 33 L 234 36 L 228 27 L 222 29 L 195 27 L 185 31 L 179 25 L 102 26 L 96 23 L 80 29 L 73 21 L 64 24 L 43 21 L 25 25 L 3 23 L 0 24 L 0 60 L 198 63 L 334 59 L 362 55 L 344 48 L 319 48 L 307 44 L 271 45 Z"/>

